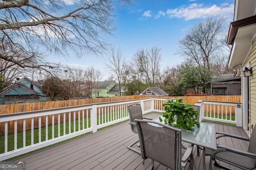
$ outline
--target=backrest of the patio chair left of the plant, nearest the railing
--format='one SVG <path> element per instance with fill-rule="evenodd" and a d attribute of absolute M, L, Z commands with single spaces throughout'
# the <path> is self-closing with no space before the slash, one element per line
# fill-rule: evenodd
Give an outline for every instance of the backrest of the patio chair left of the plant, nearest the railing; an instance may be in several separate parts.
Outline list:
<path fill-rule="evenodd" d="M 132 131 L 133 133 L 138 133 L 138 130 L 135 124 L 135 119 L 143 119 L 141 106 L 140 104 L 131 104 L 127 106 L 127 109 L 130 117 L 130 124 L 131 124 Z"/>

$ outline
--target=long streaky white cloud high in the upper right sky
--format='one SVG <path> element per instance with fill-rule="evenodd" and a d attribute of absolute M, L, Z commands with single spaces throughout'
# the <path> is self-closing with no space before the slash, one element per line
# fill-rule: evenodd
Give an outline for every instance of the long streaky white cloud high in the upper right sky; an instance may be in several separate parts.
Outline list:
<path fill-rule="evenodd" d="M 190 4 L 190 6 L 176 9 L 168 9 L 166 15 L 169 18 L 184 18 L 192 20 L 198 18 L 208 18 L 212 16 L 224 16 L 229 18 L 233 14 L 234 4 L 221 4 L 221 6 L 203 6 L 204 4 Z"/>

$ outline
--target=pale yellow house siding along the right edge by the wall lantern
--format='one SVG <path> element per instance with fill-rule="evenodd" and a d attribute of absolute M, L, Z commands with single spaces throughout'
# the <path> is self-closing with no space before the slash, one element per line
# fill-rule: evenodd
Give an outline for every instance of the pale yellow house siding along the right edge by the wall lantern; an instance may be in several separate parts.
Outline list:
<path fill-rule="evenodd" d="M 244 62 L 244 66 L 250 63 L 252 68 L 252 76 L 250 76 L 250 123 L 256 123 L 256 38 L 252 41 L 252 49 L 248 58 Z M 244 67 L 243 66 L 243 67 Z M 244 101 L 243 101 L 244 102 Z"/>

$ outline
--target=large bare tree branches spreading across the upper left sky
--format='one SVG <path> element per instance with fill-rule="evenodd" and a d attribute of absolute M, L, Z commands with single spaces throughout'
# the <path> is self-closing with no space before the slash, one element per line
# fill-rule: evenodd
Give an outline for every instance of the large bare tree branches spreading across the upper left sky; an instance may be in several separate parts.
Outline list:
<path fill-rule="evenodd" d="M 110 0 L 3 0 L 0 9 L 0 45 L 13 52 L 0 58 L 22 68 L 54 68 L 42 60 L 46 51 L 67 55 L 72 50 L 78 57 L 101 52 L 103 37 L 114 30 Z"/>

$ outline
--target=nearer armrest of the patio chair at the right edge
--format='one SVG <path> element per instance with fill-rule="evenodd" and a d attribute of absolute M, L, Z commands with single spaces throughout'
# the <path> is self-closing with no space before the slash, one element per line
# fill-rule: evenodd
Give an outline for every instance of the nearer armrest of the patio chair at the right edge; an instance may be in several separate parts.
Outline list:
<path fill-rule="evenodd" d="M 245 152 L 243 150 L 238 150 L 238 149 L 234 149 L 234 148 L 227 147 L 227 146 L 224 146 L 224 145 L 219 145 L 219 144 L 217 144 L 217 152 L 212 154 L 212 156 L 214 156 L 214 155 L 216 155 L 220 152 L 233 152 L 233 153 L 236 153 L 236 154 L 240 154 L 240 155 L 243 155 L 243 156 L 247 156 L 247 157 L 256 159 L 256 154 L 254 154 L 254 153 Z"/>

